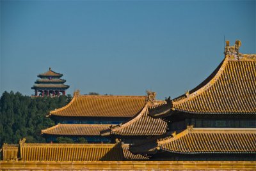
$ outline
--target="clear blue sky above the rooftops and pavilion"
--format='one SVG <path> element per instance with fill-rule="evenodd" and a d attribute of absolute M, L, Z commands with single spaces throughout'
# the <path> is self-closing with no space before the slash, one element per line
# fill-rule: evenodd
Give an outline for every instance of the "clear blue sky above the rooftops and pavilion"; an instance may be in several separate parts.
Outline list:
<path fill-rule="evenodd" d="M 1 94 L 34 94 L 51 67 L 68 94 L 175 98 L 221 63 L 224 35 L 256 53 L 255 1 L 0 1 Z"/>

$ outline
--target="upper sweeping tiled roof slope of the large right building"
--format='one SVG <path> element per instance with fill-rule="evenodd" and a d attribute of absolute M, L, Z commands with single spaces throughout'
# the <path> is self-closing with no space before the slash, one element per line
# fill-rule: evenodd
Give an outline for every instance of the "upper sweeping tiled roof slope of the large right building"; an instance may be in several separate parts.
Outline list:
<path fill-rule="evenodd" d="M 191 113 L 256 114 L 256 55 L 227 55 L 209 78 L 172 105 Z"/>

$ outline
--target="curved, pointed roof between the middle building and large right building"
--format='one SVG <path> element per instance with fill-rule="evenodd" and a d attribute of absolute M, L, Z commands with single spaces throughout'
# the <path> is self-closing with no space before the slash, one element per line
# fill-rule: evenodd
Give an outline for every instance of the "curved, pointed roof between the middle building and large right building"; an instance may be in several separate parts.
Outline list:
<path fill-rule="evenodd" d="M 150 103 L 150 102 L 148 102 Z M 160 104 L 161 105 L 161 104 Z M 130 121 L 111 127 L 107 131 L 102 131 L 102 135 L 122 135 L 122 136 L 148 136 L 162 135 L 166 132 L 167 123 L 162 119 L 154 119 L 148 115 L 148 104 Z"/>

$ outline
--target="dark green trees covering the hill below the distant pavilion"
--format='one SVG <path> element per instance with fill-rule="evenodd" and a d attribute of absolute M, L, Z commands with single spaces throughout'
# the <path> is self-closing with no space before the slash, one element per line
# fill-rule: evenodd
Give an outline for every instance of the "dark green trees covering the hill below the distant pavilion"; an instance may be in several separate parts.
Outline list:
<path fill-rule="evenodd" d="M 41 130 L 54 126 L 54 121 L 45 115 L 70 100 L 70 95 L 31 98 L 19 92 L 4 92 L 0 98 L 0 147 L 3 143 L 18 144 L 20 138 L 26 138 L 26 142 L 45 142 Z"/>

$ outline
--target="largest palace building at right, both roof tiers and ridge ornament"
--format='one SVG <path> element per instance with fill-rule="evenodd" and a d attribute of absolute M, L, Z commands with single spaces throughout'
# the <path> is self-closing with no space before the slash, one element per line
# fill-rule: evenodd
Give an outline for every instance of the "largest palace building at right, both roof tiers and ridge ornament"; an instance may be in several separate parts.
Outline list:
<path fill-rule="evenodd" d="M 152 160 L 255 160 L 256 55 L 237 40 L 202 84 L 148 111 L 168 123 L 162 137 L 131 146 Z"/>

